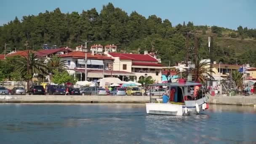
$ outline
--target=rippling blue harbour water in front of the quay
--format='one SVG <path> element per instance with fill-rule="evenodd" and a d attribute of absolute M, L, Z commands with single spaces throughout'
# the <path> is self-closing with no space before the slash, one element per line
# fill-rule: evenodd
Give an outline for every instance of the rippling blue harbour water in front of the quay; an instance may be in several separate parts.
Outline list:
<path fill-rule="evenodd" d="M 256 143 L 256 108 L 147 115 L 145 104 L 0 104 L 1 143 Z"/>

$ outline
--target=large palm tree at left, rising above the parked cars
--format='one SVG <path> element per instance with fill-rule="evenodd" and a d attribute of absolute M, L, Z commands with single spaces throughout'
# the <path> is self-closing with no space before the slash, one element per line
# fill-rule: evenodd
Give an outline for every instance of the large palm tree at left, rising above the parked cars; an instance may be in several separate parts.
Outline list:
<path fill-rule="evenodd" d="M 29 80 L 32 79 L 34 74 L 47 74 L 45 59 L 37 57 L 32 51 L 16 61 L 16 69 L 27 79 L 27 89 L 29 89 Z"/>

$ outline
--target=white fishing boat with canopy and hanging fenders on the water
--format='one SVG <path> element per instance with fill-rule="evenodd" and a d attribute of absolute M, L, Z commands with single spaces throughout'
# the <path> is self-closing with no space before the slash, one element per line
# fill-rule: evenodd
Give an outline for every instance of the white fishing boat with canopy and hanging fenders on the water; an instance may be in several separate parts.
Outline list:
<path fill-rule="evenodd" d="M 160 100 L 150 100 L 146 104 L 147 114 L 157 115 L 196 115 L 205 109 L 208 109 L 208 96 L 202 89 L 196 96 L 190 94 L 190 88 L 202 85 L 200 83 L 184 82 L 184 83 L 159 83 L 151 86 L 168 86 L 169 97 L 173 95 L 173 101 L 161 103 Z M 189 92 L 188 92 L 189 91 Z M 151 97 L 150 97 L 151 98 Z"/>

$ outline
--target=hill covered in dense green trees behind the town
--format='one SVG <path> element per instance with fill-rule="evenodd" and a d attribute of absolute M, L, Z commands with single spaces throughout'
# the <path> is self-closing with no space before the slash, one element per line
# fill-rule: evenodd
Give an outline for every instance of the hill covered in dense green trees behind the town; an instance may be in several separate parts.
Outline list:
<path fill-rule="evenodd" d="M 239 24 L 238 24 L 239 25 Z M 59 8 L 45 11 L 37 16 L 15 18 L 0 27 L 0 52 L 4 43 L 7 50 L 29 47 L 41 49 L 41 45 L 69 46 L 74 48 L 83 40 L 91 44 L 116 44 L 119 51 L 138 53 L 155 50 L 164 64 L 183 61 L 186 53 L 186 35 L 189 35 L 189 47 L 193 47 L 195 35 L 199 39 L 199 54 L 208 58 L 207 40 L 213 36 L 214 60 L 227 64 L 256 64 L 256 29 L 238 27 L 237 30 L 223 27 L 195 26 L 192 22 L 183 22 L 173 26 L 168 19 L 155 15 L 145 18 L 136 11 L 128 15 L 112 3 L 104 5 L 101 12 L 95 8 L 82 13 L 61 13 Z"/>

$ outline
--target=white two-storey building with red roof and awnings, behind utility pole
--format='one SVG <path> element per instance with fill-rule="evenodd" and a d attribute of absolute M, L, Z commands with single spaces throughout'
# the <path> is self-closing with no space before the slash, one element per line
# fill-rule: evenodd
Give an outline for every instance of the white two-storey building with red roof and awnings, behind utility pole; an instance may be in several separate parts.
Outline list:
<path fill-rule="evenodd" d="M 75 75 L 78 81 L 85 81 L 85 52 L 74 51 L 60 55 L 67 61 L 67 71 L 70 75 Z M 135 76 L 131 72 L 113 70 L 111 57 L 101 54 L 87 53 L 87 77 L 88 81 L 97 80 L 103 77 Z"/>

